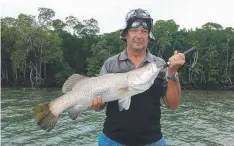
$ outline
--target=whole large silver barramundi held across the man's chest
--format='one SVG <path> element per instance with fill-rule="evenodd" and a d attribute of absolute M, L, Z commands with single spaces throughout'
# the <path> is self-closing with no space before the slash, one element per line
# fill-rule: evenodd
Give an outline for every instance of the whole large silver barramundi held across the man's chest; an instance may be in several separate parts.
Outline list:
<path fill-rule="evenodd" d="M 70 118 L 76 119 L 97 96 L 103 97 L 105 102 L 118 100 L 119 110 L 128 110 L 131 97 L 149 89 L 161 69 L 156 62 L 151 62 L 126 73 L 97 77 L 74 74 L 62 87 L 64 95 L 33 109 L 37 124 L 51 131 L 62 112 L 68 110 Z"/>

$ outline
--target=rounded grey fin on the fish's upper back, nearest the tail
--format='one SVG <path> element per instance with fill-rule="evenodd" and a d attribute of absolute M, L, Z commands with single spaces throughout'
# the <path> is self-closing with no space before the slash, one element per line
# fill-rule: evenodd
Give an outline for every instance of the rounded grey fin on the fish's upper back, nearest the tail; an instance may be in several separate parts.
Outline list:
<path fill-rule="evenodd" d="M 83 80 L 85 78 L 88 78 L 86 76 L 80 75 L 80 74 L 73 74 L 71 75 L 63 84 L 62 92 L 67 93 L 72 90 L 73 86 L 80 80 Z"/>

